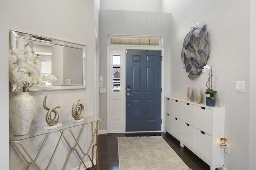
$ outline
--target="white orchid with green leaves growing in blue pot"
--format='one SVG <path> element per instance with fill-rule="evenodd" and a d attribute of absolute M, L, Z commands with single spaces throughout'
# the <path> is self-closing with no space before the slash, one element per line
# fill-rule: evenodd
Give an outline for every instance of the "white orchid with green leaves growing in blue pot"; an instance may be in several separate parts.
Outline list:
<path fill-rule="evenodd" d="M 212 100 L 215 100 L 216 96 L 214 95 L 217 93 L 217 91 L 212 90 L 212 66 L 211 67 L 208 65 L 204 66 L 204 68 L 202 69 L 202 72 L 206 72 L 206 71 L 208 71 L 208 81 L 206 82 L 207 89 L 205 94 L 207 94 L 207 96 L 209 95 Z"/>

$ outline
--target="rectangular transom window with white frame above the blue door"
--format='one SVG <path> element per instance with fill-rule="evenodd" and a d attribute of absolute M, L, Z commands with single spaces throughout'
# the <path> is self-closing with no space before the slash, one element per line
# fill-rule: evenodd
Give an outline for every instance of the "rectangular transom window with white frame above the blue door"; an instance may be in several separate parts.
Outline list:
<path fill-rule="evenodd" d="M 162 37 L 108 35 L 109 45 L 162 46 Z"/>

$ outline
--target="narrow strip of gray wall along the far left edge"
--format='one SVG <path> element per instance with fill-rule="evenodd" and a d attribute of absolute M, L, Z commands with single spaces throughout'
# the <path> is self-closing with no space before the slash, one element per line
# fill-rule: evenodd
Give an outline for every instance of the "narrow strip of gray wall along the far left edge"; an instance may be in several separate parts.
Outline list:
<path fill-rule="evenodd" d="M 0 51 L 1 51 L 1 62 L 0 62 L 0 72 L 2 83 L 0 84 L 1 93 L 1 120 L 0 129 L 1 140 L 0 140 L 0 167 L 3 170 L 9 169 L 9 96 L 8 96 L 8 43 L 9 43 L 9 3 L 7 0 L 2 1 L 0 5 L 0 21 L 1 27 L 0 32 L 2 34 L 0 41 Z"/>

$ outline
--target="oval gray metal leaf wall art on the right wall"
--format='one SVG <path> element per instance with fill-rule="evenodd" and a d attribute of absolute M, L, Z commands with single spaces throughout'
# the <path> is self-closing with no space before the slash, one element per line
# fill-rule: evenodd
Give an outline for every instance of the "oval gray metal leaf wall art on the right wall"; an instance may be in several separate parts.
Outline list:
<path fill-rule="evenodd" d="M 186 35 L 181 50 L 184 69 L 189 72 L 190 79 L 197 78 L 206 65 L 210 53 L 210 40 L 206 25 L 196 23 Z"/>

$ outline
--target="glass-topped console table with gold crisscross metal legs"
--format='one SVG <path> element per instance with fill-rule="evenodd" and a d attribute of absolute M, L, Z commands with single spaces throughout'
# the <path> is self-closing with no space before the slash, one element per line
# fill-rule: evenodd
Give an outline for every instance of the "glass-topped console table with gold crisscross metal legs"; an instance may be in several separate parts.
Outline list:
<path fill-rule="evenodd" d="M 13 132 L 10 131 L 10 146 L 13 145 L 14 149 L 16 149 L 20 153 L 21 157 L 27 164 L 26 169 L 29 169 L 30 166 L 34 165 L 34 167 L 36 169 L 41 170 L 42 168 L 40 168 L 39 165 L 37 164 L 37 162 L 40 161 L 40 160 L 38 160 L 38 156 L 39 156 L 40 152 L 44 149 L 44 144 L 46 143 L 49 134 L 50 133 L 59 133 L 60 137 L 58 139 L 58 143 L 56 144 L 56 147 L 52 152 L 52 156 L 49 158 L 48 165 L 45 168 L 46 170 L 49 169 L 50 164 L 52 163 L 54 155 L 55 155 L 61 141 L 66 143 L 69 148 L 68 155 L 65 158 L 63 157 L 63 159 L 65 159 L 65 163 L 62 166 L 62 170 L 64 170 L 64 168 L 66 167 L 68 158 L 70 157 L 72 151 L 75 151 L 76 155 L 80 159 L 80 164 L 78 166 L 78 170 L 81 168 L 82 164 L 84 165 L 85 168 L 88 168 L 88 167 L 86 167 L 86 165 L 84 163 L 84 158 L 86 156 L 88 156 L 88 158 L 90 159 L 90 162 L 92 162 L 92 166 L 89 168 L 94 167 L 96 170 L 99 170 L 97 140 L 98 140 L 98 126 L 99 126 L 100 121 L 102 121 L 102 119 L 98 119 L 95 117 L 83 117 L 83 119 L 84 119 L 84 121 L 81 123 L 74 123 L 74 122 L 72 122 L 72 120 L 61 122 L 62 123 L 61 127 L 58 127 L 56 129 L 52 129 L 52 130 L 44 129 L 44 126 L 34 127 L 32 129 L 30 129 L 30 131 L 27 135 L 23 135 L 23 136 L 14 136 Z M 90 141 L 89 147 L 87 149 L 82 149 L 79 142 L 81 143 L 83 141 L 82 140 L 79 141 L 79 139 L 82 134 L 82 130 L 84 129 L 84 126 L 86 124 L 91 125 L 92 139 Z M 79 131 L 78 137 L 75 137 L 74 133 L 72 132 L 73 127 L 78 127 L 80 129 L 80 130 L 78 130 Z M 67 132 L 71 133 L 72 138 L 75 141 L 75 144 L 73 146 L 70 145 L 69 141 L 65 137 L 65 134 Z M 27 149 L 22 145 L 22 140 L 29 139 L 29 138 L 32 139 L 33 137 L 40 136 L 40 135 L 45 135 L 44 140 L 42 142 L 42 145 L 39 147 L 39 150 L 36 153 L 36 156 L 34 156 L 34 158 L 32 158 L 32 156 L 30 156 L 30 154 L 28 153 Z M 48 140 L 50 140 L 50 138 Z M 92 157 L 89 155 L 90 149 L 92 149 Z M 96 155 L 94 154 L 94 150 L 96 151 Z M 95 158 L 97 161 L 97 163 L 96 163 L 97 168 L 94 164 Z"/>

